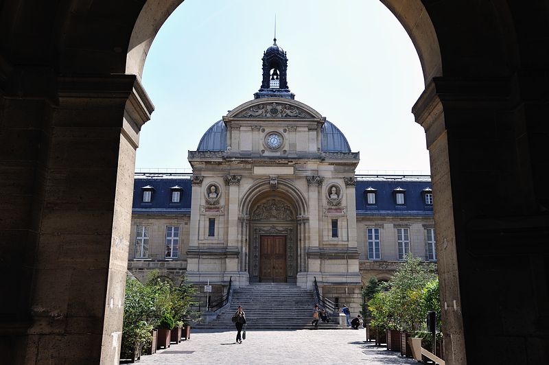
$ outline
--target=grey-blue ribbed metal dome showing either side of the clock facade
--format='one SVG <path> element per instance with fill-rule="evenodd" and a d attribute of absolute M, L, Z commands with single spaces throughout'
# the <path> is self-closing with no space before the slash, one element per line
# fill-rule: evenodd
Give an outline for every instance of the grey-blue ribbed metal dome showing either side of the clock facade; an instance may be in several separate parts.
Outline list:
<path fill-rule="evenodd" d="M 338 127 L 325 121 L 322 127 L 322 152 L 351 152 L 349 142 Z M 227 149 L 227 128 L 222 120 L 208 128 L 198 143 L 197 151 L 225 151 Z"/>

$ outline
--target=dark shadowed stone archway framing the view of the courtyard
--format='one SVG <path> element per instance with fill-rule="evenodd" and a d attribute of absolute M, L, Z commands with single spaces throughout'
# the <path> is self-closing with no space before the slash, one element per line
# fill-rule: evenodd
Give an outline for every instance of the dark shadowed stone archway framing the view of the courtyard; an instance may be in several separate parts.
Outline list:
<path fill-rule="evenodd" d="M 9 19 L 0 23 L 8 362 L 115 362 L 133 156 L 152 111 L 139 75 L 181 2 L 10 1 L 1 9 Z M 513 336 L 521 346 L 502 362 L 541 363 L 549 342 L 546 5 L 383 2 L 423 66 L 414 115 L 427 132 L 437 197 L 448 363 L 497 362 L 502 355 L 490 349 L 511 348 Z M 93 168 L 82 169 L 82 156 Z M 93 300 L 82 300 L 82 287 Z M 523 300 L 500 297 L 511 290 Z"/>

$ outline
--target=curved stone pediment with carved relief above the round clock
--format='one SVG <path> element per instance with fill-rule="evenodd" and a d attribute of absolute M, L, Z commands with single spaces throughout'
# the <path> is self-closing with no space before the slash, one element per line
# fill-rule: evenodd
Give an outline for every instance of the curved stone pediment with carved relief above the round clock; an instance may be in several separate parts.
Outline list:
<path fill-rule="evenodd" d="M 231 110 L 229 118 L 242 119 L 321 119 L 322 115 L 313 108 L 292 99 L 269 97 L 255 99 Z"/>

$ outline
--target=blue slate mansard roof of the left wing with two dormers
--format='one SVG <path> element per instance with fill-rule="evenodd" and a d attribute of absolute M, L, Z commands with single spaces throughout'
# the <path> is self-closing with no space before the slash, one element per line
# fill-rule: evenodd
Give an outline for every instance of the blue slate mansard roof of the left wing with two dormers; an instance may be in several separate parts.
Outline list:
<path fill-rule="evenodd" d="M 150 202 L 143 202 L 145 190 Z M 172 191 L 180 191 L 179 202 L 172 202 Z M 135 174 L 132 213 L 189 215 L 191 191 L 191 174 Z"/>

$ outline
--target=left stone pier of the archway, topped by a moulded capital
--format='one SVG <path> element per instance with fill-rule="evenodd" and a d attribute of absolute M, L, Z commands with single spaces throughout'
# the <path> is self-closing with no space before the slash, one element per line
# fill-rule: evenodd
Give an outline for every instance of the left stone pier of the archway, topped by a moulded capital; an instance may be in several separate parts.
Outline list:
<path fill-rule="evenodd" d="M 8 213 L 0 213 L 1 235 L 10 237 L 3 262 L 17 266 L 3 276 L 12 292 L 2 308 L 10 319 L 0 335 L 11 328 L 17 357 L 25 363 L 114 364 L 135 150 L 153 106 L 135 75 L 60 77 L 52 84 L 55 101 L 36 95 L 27 100 L 20 90 L 13 100 L 6 93 L 0 104 L 8 151 L 1 152 L 1 165 L 8 167 L 1 174 L 18 173 L 2 180 L 9 192 L 20 189 L 14 197 L 23 203 L 17 207 L 9 195 L 0 202 Z M 6 150 L 9 143 L 21 144 Z M 23 174 L 26 167 L 33 172 Z M 23 234 L 10 235 L 10 228 Z"/>

